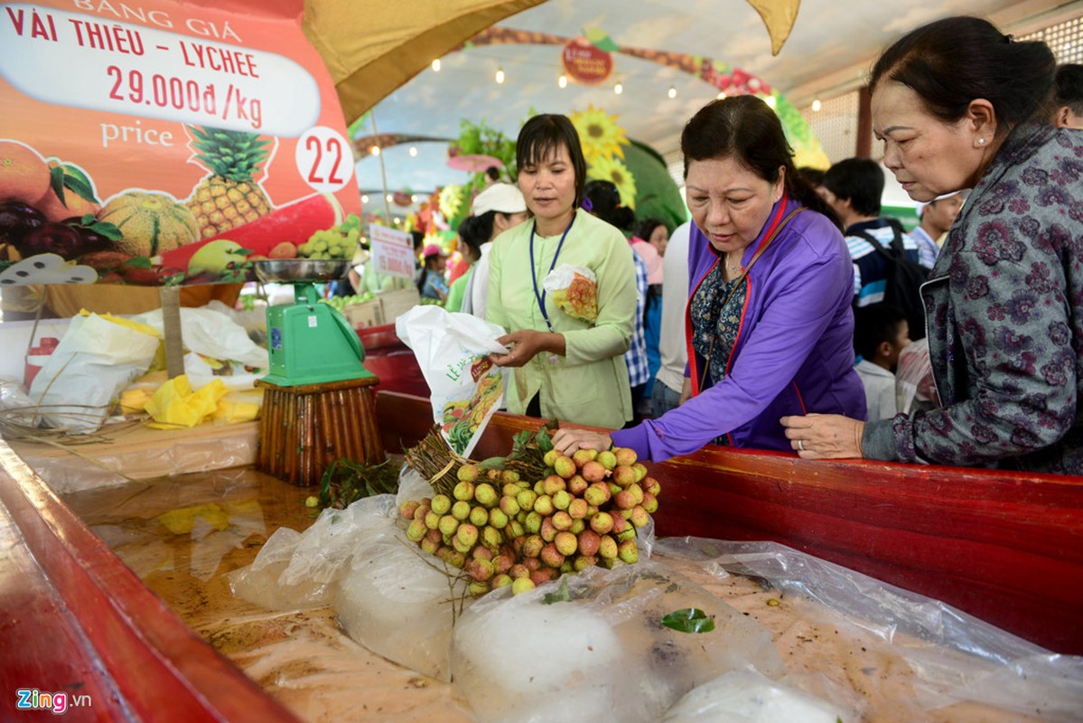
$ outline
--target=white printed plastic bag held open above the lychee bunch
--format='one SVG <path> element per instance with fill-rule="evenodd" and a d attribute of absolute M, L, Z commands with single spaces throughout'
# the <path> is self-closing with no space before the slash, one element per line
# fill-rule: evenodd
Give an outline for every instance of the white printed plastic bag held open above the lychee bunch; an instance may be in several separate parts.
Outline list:
<path fill-rule="evenodd" d="M 488 360 L 491 352 L 508 352 L 496 343 L 504 330 L 471 314 L 417 306 L 399 317 L 395 333 L 414 350 L 444 440 L 459 456 L 469 456 L 504 404 L 507 374 Z"/>

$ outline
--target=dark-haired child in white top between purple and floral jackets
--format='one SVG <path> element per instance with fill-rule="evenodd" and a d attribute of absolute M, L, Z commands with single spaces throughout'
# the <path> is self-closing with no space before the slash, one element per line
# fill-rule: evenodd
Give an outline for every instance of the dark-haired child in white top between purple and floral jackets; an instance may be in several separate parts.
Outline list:
<path fill-rule="evenodd" d="M 895 367 L 908 346 L 910 324 L 901 309 L 883 302 L 854 309 L 853 350 L 860 357 L 854 369 L 865 387 L 870 422 L 898 413 Z"/>

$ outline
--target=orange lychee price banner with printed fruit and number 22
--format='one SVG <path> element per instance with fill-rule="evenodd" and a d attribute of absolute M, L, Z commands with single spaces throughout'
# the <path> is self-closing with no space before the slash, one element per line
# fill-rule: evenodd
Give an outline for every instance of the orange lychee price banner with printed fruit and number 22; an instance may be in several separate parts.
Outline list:
<path fill-rule="evenodd" d="M 327 243 L 361 211 L 334 82 L 303 0 L 264 4 L 0 3 L 0 288 L 353 256 Z"/>

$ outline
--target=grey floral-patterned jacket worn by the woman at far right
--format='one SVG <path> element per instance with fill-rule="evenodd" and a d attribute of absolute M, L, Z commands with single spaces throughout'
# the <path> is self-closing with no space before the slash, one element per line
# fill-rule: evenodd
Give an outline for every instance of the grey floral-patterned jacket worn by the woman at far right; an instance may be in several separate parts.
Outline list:
<path fill-rule="evenodd" d="M 922 296 L 943 406 L 867 424 L 864 455 L 1083 475 L 1083 131 L 1012 132 Z"/>

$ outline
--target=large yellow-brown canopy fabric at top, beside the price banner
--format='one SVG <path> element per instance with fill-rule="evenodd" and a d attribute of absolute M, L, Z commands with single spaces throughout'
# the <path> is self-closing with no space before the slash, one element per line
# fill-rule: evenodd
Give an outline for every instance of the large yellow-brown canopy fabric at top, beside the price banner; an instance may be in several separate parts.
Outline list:
<path fill-rule="evenodd" d="M 545 0 L 305 0 L 302 28 L 352 122 L 467 38 Z"/>

